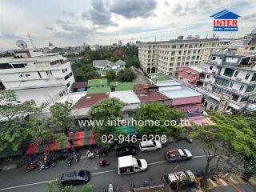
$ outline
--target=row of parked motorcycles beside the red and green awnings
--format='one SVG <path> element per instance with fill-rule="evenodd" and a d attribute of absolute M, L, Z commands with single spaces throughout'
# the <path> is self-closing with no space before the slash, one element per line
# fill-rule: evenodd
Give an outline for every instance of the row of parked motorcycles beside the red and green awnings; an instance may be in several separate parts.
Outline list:
<path fill-rule="evenodd" d="M 79 162 L 80 158 L 81 158 L 81 154 L 79 152 L 68 154 L 66 158 L 67 166 L 71 166 L 74 161 Z M 56 166 L 57 162 L 58 160 L 57 158 L 54 157 L 54 154 L 52 153 L 44 154 L 42 162 L 38 162 L 38 160 L 28 162 L 26 164 L 26 172 L 35 170 L 38 167 L 39 167 L 39 170 L 47 170 L 50 168 L 50 166 Z"/>

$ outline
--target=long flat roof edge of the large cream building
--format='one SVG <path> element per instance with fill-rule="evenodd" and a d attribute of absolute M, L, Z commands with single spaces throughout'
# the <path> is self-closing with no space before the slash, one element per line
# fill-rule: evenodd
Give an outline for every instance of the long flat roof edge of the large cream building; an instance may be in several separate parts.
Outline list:
<path fill-rule="evenodd" d="M 171 44 L 171 43 L 186 43 L 186 42 L 218 42 L 218 38 L 193 38 L 193 39 L 171 39 L 170 41 L 161 41 L 161 42 L 142 42 L 140 45 L 157 45 L 157 44 Z"/>

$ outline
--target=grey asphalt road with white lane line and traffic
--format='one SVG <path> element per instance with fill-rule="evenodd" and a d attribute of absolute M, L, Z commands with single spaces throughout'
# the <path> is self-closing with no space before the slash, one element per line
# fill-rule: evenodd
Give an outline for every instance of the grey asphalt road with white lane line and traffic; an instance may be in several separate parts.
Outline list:
<path fill-rule="evenodd" d="M 191 151 L 193 158 L 183 162 L 166 162 L 164 153 L 167 149 L 186 148 Z M 92 174 L 90 182 L 94 184 L 94 191 L 100 192 L 107 189 L 112 183 L 114 186 L 121 186 L 123 191 L 130 188 L 131 182 L 134 186 L 143 185 L 143 181 L 147 179 L 150 185 L 162 184 L 163 174 L 173 172 L 175 166 L 178 170 L 202 170 L 206 165 L 206 159 L 203 151 L 195 144 L 186 141 L 175 142 L 163 145 L 162 150 L 152 152 L 139 152 L 135 158 L 144 158 L 148 162 L 148 170 L 143 173 L 118 175 L 118 158 L 115 157 L 114 151 L 111 152 L 106 159 L 110 161 L 110 166 L 100 167 L 98 162 L 102 158 L 81 159 L 80 162 L 72 166 L 66 166 L 66 162 L 58 162 L 55 167 L 49 170 L 33 170 L 26 173 L 25 167 L 18 170 L 5 170 L 0 172 L 0 191 L 6 192 L 45 192 L 47 182 L 54 178 L 59 178 L 63 172 L 71 170 L 89 170 Z M 77 186 L 77 190 L 82 186 Z"/>

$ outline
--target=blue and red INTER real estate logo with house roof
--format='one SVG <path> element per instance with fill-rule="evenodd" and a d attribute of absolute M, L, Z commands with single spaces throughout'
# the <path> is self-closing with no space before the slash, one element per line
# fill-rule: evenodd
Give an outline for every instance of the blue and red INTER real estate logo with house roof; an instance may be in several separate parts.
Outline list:
<path fill-rule="evenodd" d="M 210 16 L 214 18 L 214 31 L 238 31 L 238 14 L 222 10 Z"/>

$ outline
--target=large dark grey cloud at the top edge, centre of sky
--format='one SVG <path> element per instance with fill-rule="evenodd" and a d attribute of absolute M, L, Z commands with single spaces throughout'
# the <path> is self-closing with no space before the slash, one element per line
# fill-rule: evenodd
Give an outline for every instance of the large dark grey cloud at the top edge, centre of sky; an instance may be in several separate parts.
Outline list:
<path fill-rule="evenodd" d="M 110 12 L 125 18 L 147 18 L 154 13 L 155 0 L 113 0 L 110 2 Z"/>

